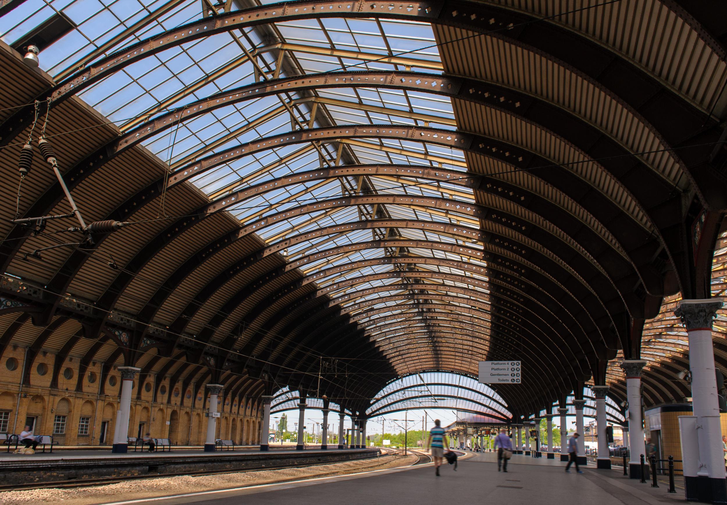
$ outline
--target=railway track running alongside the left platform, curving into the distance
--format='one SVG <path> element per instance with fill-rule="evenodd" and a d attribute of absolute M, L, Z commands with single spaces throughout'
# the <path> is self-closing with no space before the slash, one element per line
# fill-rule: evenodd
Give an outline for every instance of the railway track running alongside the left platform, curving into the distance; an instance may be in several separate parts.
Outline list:
<path fill-rule="evenodd" d="M 385 449 L 382 452 L 384 452 L 384 456 L 396 456 L 399 452 L 398 450 L 391 450 L 391 449 Z M 423 453 L 419 453 L 419 451 L 413 451 L 409 449 L 409 453 L 412 453 L 412 455 L 417 456 L 417 461 L 414 462 L 414 464 L 406 465 L 406 466 L 415 466 L 419 464 L 425 464 L 428 463 L 430 460 L 429 456 Z M 401 454 L 401 457 L 403 458 L 403 453 Z M 384 466 L 385 464 L 388 464 L 390 461 L 379 461 L 379 457 L 375 458 L 365 458 L 360 459 L 356 461 L 366 461 L 368 459 L 376 460 L 377 462 L 371 465 L 361 466 L 356 468 L 353 471 L 341 471 L 337 470 L 334 472 L 324 472 L 321 474 L 315 474 L 315 475 L 308 475 L 305 477 L 292 477 L 290 479 L 281 479 L 277 480 L 276 482 L 295 482 L 297 480 L 302 479 L 310 479 L 310 478 L 318 478 L 318 477 L 332 477 L 334 475 L 339 475 L 342 473 L 354 473 L 354 472 L 365 472 L 368 470 L 376 469 L 378 466 Z M 342 463 L 342 461 L 337 461 L 334 463 Z M 309 464 L 305 465 L 308 466 L 323 466 L 327 464 L 334 464 L 331 462 L 326 463 L 318 463 L 318 464 Z M 30 489 L 73 489 L 73 488 L 85 488 L 85 487 L 92 487 L 92 486 L 100 486 L 100 485 L 108 485 L 108 484 L 115 484 L 116 482 L 128 482 L 130 480 L 147 480 L 147 479 L 157 479 L 159 477 L 178 477 L 180 475 L 189 475 L 192 477 L 201 477 L 204 475 L 219 475 L 219 474 L 243 474 L 248 472 L 261 472 L 261 471 L 268 471 L 268 470 L 280 470 L 280 469 L 292 469 L 292 468 L 300 468 L 296 466 L 265 466 L 262 468 L 252 468 L 252 469 L 241 469 L 241 470 L 213 470 L 213 471 L 198 471 L 198 472 L 184 472 L 184 473 L 158 473 L 158 474 L 143 474 L 143 475 L 121 475 L 119 477 L 101 477 L 98 479 L 77 479 L 77 480 L 63 480 L 63 481 L 57 481 L 57 482 L 29 482 L 25 484 L 12 484 L 12 485 L 0 485 L 0 492 L 2 491 L 17 491 L 17 490 L 30 490 Z"/>

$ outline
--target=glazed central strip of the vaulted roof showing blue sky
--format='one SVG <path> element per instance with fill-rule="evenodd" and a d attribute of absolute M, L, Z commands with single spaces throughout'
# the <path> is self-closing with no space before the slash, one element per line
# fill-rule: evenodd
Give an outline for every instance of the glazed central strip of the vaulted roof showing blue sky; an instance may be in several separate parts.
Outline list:
<path fill-rule="evenodd" d="M 222 5 L 214 9 L 222 9 Z M 12 44 L 55 12 L 67 16 L 76 27 L 44 47 L 40 57 L 41 68 L 62 80 L 79 66 L 153 34 L 200 19 L 208 10 L 207 4 L 184 0 L 28 0 L 23 9 L 15 9 L 3 18 L 0 37 Z M 281 62 L 279 70 L 278 61 Z M 161 114 L 180 110 L 218 92 L 277 76 L 345 69 L 411 70 L 432 75 L 442 71 L 433 30 L 427 23 L 340 18 L 298 20 L 218 33 L 169 47 L 84 89 L 79 98 L 123 132 L 128 132 Z M 172 122 L 155 130 L 154 135 L 142 140 L 142 145 L 169 164 L 170 171 L 176 171 L 241 143 L 292 130 L 344 124 L 407 124 L 443 130 L 457 127 L 449 98 L 420 91 L 342 86 L 300 92 L 281 90 L 277 95 L 226 103 L 205 110 L 193 119 Z M 416 164 L 463 174 L 467 170 L 464 152 L 449 146 L 404 138 L 326 138 L 315 143 L 254 151 L 199 172 L 190 182 L 210 199 L 224 199 L 232 191 L 289 175 L 353 164 Z M 353 310 L 352 315 L 377 311 L 360 321 L 361 325 L 370 325 L 366 327 L 371 335 L 377 327 L 390 325 L 393 319 L 387 316 L 393 314 L 400 315 L 402 321 L 424 327 L 446 325 L 458 312 L 472 311 L 475 300 L 488 299 L 486 275 L 467 267 L 485 267 L 485 262 L 441 247 L 411 242 L 430 241 L 481 250 L 479 244 L 465 241 L 457 234 L 422 226 L 422 223 L 454 224 L 478 230 L 479 221 L 471 212 L 437 205 L 414 206 L 401 199 L 383 203 L 363 200 L 377 195 L 456 199 L 465 204 L 475 201 L 469 188 L 454 181 L 445 183 L 413 175 L 394 177 L 362 172 L 289 185 L 271 184 L 268 191 L 238 200 L 227 210 L 241 226 L 265 219 L 264 226 L 256 230 L 268 244 L 300 234 L 315 235 L 314 232 L 327 226 L 348 226 L 331 234 L 308 236 L 281 247 L 281 253 L 290 261 L 305 259 L 302 266 L 305 275 L 316 275 L 318 287 L 331 287 L 331 297 L 354 297 L 361 290 L 393 285 L 390 291 L 366 293 L 344 303 L 345 307 L 370 303 Z M 304 207 L 323 199 L 351 196 L 358 197 L 357 204 L 325 209 Z M 290 215 L 273 219 L 283 211 Z M 379 226 L 377 220 L 401 223 Z M 373 241 L 377 242 L 366 248 L 356 247 Z M 334 248 L 337 249 L 329 252 Z M 320 257 L 310 258 L 318 253 Z M 418 263 L 403 263 L 401 258 Z M 390 261 L 375 261 L 385 259 Z M 353 265 L 350 269 L 329 270 L 362 261 L 372 262 Z M 418 272 L 418 277 L 411 277 L 412 271 Z M 358 282 L 358 278 L 366 276 L 369 277 L 364 282 Z M 465 279 L 470 281 L 463 282 Z M 417 293 L 406 286 L 420 282 L 431 283 L 432 287 Z M 427 293 L 441 296 L 448 287 L 455 286 L 474 290 L 477 295 L 470 297 L 471 303 L 452 298 L 436 301 L 445 308 L 441 314 L 417 309 L 420 303 L 429 303 Z M 414 298 L 373 303 L 397 293 Z M 481 314 L 486 324 L 489 319 L 486 311 L 482 309 Z M 438 352 L 436 345 L 433 349 Z"/>

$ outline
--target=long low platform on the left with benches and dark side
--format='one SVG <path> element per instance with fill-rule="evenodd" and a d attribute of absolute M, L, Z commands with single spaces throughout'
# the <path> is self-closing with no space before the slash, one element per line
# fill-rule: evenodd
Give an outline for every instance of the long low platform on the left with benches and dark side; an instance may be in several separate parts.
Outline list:
<path fill-rule="evenodd" d="M 238 472 L 290 466 L 339 463 L 374 458 L 378 449 L 321 450 L 172 450 L 155 453 L 106 453 L 59 451 L 32 455 L 0 456 L 0 482 L 4 485 L 48 485 L 68 480 L 101 480 L 109 477 L 140 477 L 199 472 Z"/>

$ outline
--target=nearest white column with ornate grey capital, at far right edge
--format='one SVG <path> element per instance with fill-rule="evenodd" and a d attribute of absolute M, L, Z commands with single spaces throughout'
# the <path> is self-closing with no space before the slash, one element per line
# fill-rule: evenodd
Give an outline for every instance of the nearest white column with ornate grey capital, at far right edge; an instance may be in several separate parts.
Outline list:
<path fill-rule="evenodd" d="M 720 407 L 715 376 L 715 354 L 712 343 L 712 319 L 722 307 L 721 298 L 683 300 L 674 311 L 689 335 L 689 370 L 691 401 L 697 418 L 699 466 L 696 477 L 685 472 L 686 498 L 698 496 L 700 501 L 727 502 L 725 461 L 722 450 Z M 632 434 L 633 435 L 633 434 Z M 632 436 L 632 439 L 634 437 Z M 681 440 L 692 437 L 682 435 Z M 684 468 L 687 468 L 685 461 Z"/>

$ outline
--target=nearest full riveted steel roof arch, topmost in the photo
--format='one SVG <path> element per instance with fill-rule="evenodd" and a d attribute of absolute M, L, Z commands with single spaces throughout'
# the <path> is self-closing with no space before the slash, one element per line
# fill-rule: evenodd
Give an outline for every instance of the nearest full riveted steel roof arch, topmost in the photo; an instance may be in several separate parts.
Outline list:
<path fill-rule="evenodd" d="M 156 54 L 156 52 L 168 47 L 178 46 L 186 41 L 193 41 L 236 28 L 276 23 L 284 20 L 321 17 L 376 17 L 420 20 L 429 23 L 454 25 L 475 31 L 475 33 L 486 33 L 507 43 L 523 47 L 529 52 L 545 55 L 558 65 L 563 66 L 564 63 L 570 65 L 571 68 L 577 69 L 582 78 L 606 90 L 608 90 L 608 87 L 601 84 L 603 81 L 607 81 L 611 86 L 618 82 L 628 81 L 630 83 L 629 87 L 619 88 L 619 92 L 614 93 L 614 95 L 618 95 L 619 99 L 623 100 L 624 103 L 630 107 L 632 106 L 642 114 L 645 118 L 642 121 L 652 130 L 654 126 L 647 121 L 656 119 L 654 124 L 659 124 L 662 122 L 662 118 L 659 114 L 656 114 L 654 109 L 643 106 L 643 96 L 651 96 L 655 103 L 661 105 L 655 107 L 656 110 L 685 109 L 679 111 L 678 119 L 680 119 L 680 122 L 678 124 L 694 126 L 694 129 L 688 131 L 703 131 L 704 124 L 715 124 L 710 117 L 690 106 L 682 97 L 664 92 L 654 93 L 654 90 L 662 88 L 658 79 L 632 65 L 616 50 L 595 43 L 577 31 L 571 31 L 551 23 L 534 23 L 539 18 L 525 12 L 516 12 L 506 7 L 495 7 L 461 0 L 417 1 L 413 4 L 402 1 L 395 1 L 390 4 L 376 4 L 375 2 L 371 3 L 371 1 L 361 1 L 358 4 L 351 3 L 347 5 L 330 4 L 329 9 L 317 9 L 315 1 L 298 1 L 292 4 L 266 5 L 228 12 L 214 17 L 214 20 L 193 21 L 188 25 L 172 28 L 150 39 L 132 44 L 89 65 L 57 84 L 52 90 L 51 96 L 55 101 L 63 100 L 104 76 L 115 73 L 124 66 L 143 57 Z M 490 19 L 499 20 L 500 25 L 510 25 L 511 29 L 492 31 L 491 25 L 486 21 Z M 538 49 L 539 47 L 547 49 L 541 51 Z M 579 47 L 579 52 L 574 54 L 572 47 Z M 607 76 L 613 76 L 614 70 L 621 79 L 615 81 L 613 79 L 604 79 Z M 624 79 L 624 76 L 628 76 L 629 79 Z M 46 95 L 47 93 L 42 95 L 39 100 L 45 98 Z M 29 124 L 27 116 L 25 111 L 18 112 L 7 121 L 6 128 L 11 127 L 10 125 L 17 128 L 18 124 Z M 664 130 L 663 127 L 662 130 Z M 659 133 L 670 134 L 669 137 L 673 141 L 675 134 L 679 135 L 678 132 L 681 134 L 679 140 L 683 139 L 685 133 L 681 130 L 667 130 Z M 0 138 L 4 139 L 6 137 L 7 132 L 1 132 Z M 667 140 L 670 139 L 667 138 Z M 681 165 L 684 166 L 685 164 L 682 162 Z M 691 171 L 687 171 L 687 173 L 690 178 L 694 178 Z M 710 182 L 713 180 L 713 177 L 710 177 L 709 174 L 699 175 L 701 180 L 705 180 L 705 178 Z M 701 186 L 700 196 L 702 196 L 702 191 L 710 191 L 710 188 L 704 183 Z M 711 192 L 710 196 L 712 196 Z M 721 199 L 719 196 L 718 198 Z M 704 199 L 704 196 L 702 196 L 702 199 Z"/>

